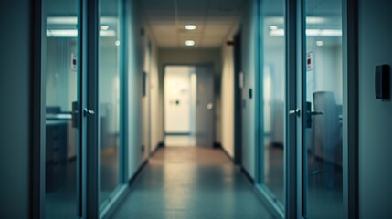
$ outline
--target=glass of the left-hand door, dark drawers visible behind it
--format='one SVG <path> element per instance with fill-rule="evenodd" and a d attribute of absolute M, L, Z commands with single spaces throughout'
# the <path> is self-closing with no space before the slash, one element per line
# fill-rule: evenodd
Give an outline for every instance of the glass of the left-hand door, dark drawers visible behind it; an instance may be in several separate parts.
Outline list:
<path fill-rule="evenodd" d="M 76 218 L 77 138 L 72 103 L 78 101 L 78 1 L 48 0 L 46 38 L 45 218 Z M 45 36 L 44 36 L 45 37 Z"/>

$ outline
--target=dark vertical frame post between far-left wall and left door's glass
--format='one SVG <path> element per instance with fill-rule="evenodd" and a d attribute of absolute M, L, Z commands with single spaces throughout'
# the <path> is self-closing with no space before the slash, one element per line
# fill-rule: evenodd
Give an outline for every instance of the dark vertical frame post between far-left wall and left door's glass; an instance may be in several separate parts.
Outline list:
<path fill-rule="evenodd" d="M 45 159 L 45 149 L 41 145 L 45 145 L 45 99 L 46 86 L 45 77 L 42 76 L 44 66 L 42 56 L 46 51 L 44 37 L 46 31 L 46 22 L 42 15 L 43 1 L 32 0 L 30 5 L 30 12 L 32 19 L 30 26 L 32 29 L 31 39 L 31 75 L 30 75 L 30 89 L 31 89 L 31 111 L 30 111 L 30 217 L 43 218 L 45 215 L 45 166 L 41 160 Z"/>

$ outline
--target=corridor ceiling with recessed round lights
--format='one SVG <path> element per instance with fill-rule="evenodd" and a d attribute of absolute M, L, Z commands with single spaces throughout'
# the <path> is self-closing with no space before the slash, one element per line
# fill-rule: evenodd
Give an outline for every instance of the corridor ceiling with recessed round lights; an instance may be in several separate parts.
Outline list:
<path fill-rule="evenodd" d="M 236 26 L 245 0 L 143 0 L 143 16 L 158 47 L 221 47 Z M 196 25 L 186 30 L 185 25 Z"/>

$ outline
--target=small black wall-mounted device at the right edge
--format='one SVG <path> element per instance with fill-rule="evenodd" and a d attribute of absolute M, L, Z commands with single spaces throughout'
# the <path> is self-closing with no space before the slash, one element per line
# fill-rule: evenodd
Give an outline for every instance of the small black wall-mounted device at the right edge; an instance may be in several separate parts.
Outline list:
<path fill-rule="evenodd" d="M 376 66 L 375 91 L 376 99 L 390 98 L 390 67 L 389 65 Z"/>

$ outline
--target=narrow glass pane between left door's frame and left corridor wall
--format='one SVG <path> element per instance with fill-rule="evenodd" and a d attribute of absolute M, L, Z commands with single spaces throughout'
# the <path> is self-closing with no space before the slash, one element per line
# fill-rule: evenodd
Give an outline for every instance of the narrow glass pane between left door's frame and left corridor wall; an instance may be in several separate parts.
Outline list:
<path fill-rule="evenodd" d="M 99 39 L 100 204 L 120 183 L 119 0 L 101 0 Z"/>

